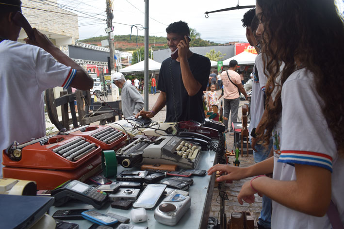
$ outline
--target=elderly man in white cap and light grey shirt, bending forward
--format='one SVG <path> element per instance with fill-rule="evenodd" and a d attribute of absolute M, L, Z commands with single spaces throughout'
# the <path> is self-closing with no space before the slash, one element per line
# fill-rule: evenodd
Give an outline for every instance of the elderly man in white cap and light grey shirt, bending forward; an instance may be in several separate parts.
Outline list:
<path fill-rule="evenodd" d="M 122 90 L 122 111 L 124 118 L 140 112 L 145 102 L 136 87 L 126 82 L 124 75 L 120 72 L 116 72 L 111 78 L 112 82 Z"/>

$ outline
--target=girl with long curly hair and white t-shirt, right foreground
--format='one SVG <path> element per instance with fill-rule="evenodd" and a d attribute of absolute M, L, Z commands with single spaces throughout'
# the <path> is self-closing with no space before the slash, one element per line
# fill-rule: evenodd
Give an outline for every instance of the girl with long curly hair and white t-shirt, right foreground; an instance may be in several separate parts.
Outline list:
<path fill-rule="evenodd" d="M 269 74 L 258 134 L 265 144 L 273 137 L 274 156 L 245 168 L 218 164 L 208 173 L 227 172 L 222 181 L 273 172 L 247 181 L 238 195 L 240 204 L 269 196 L 272 228 L 343 228 L 343 17 L 327 0 L 257 0 L 256 15 Z"/>

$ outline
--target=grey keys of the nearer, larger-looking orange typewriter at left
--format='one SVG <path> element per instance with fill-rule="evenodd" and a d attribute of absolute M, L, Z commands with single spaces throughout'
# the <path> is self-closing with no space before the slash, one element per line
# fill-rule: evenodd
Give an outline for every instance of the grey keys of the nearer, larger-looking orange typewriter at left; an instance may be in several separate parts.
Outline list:
<path fill-rule="evenodd" d="M 82 137 L 78 137 L 62 146 L 54 148 L 52 151 L 74 162 L 91 153 L 94 149 L 96 149 L 96 144 L 87 142 Z"/>

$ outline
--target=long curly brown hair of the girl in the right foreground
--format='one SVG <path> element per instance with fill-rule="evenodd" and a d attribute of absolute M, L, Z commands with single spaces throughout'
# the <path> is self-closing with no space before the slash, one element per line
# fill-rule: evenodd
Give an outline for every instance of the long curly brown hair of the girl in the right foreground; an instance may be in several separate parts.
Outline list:
<path fill-rule="evenodd" d="M 344 155 L 344 23 L 333 0 L 257 0 L 262 8 L 264 32 L 262 53 L 267 101 L 267 118 L 262 120 L 265 145 L 282 112 L 281 89 L 300 66 L 313 72 L 315 90 L 323 99 L 322 113 Z M 280 66 L 284 63 L 283 69 Z M 276 80 L 278 77 L 278 80 Z M 275 94 L 275 92 L 274 92 Z"/>

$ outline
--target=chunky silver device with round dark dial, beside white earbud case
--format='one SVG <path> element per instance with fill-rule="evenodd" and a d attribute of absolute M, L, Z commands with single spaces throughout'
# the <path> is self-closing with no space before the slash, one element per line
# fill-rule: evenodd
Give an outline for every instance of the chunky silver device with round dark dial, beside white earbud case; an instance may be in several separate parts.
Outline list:
<path fill-rule="evenodd" d="M 159 223 L 174 226 L 191 206 L 190 196 L 169 195 L 154 210 L 154 218 Z"/>

